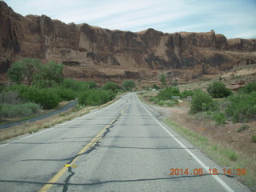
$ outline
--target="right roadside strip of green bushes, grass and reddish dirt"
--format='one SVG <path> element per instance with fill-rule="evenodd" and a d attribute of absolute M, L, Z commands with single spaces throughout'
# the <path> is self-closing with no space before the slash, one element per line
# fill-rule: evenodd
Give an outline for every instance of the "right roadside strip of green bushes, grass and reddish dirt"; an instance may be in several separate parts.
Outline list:
<path fill-rule="evenodd" d="M 198 87 L 180 91 L 178 86 L 165 86 L 142 92 L 142 98 L 168 107 L 166 124 L 220 166 L 246 169 L 236 178 L 256 191 L 256 82 L 238 91 L 227 89 L 221 81 L 209 83 L 206 90 Z"/>

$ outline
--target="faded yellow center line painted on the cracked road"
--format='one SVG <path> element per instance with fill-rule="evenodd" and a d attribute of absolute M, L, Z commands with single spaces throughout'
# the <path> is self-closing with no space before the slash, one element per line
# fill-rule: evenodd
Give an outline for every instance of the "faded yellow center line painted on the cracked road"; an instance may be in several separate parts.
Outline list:
<path fill-rule="evenodd" d="M 90 147 L 94 146 L 99 140 L 102 139 L 102 137 L 100 137 L 104 131 L 109 128 L 115 121 L 117 120 L 117 117 L 114 118 L 109 124 L 107 124 L 84 148 L 82 148 L 82 150 L 80 150 L 78 152 L 78 156 L 76 158 L 73 159 L 72 162 L 70 162 L 70 166 L 72 166 L 74 164 L 74 162 L 76 162 L 78 160 L 78 158 L 80 157 L 79 154 L 83 154 L 86 152 L 86 150 L 88 150 Z M 55 182 L 58 182 L 58 179 L 62 177 L 63 174 L 66 173 L 66 170 L 68 170 L 68 166 L 63 166 L 61 170 L 58 171 L 57 174 L 54 174 L 54 177 L 51 178 L 44 186 L 42 186 L 42 188 L 40 190 L 38 190 L 38 192 L 46 192 L 48 190 L 50 190 L 50 188 L 54 185 Z"/>

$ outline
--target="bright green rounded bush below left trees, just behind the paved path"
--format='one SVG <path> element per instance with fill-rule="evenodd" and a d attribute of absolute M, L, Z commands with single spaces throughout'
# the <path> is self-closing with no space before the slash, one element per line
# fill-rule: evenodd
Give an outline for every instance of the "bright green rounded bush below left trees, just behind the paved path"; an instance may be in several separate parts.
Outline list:
<path fill-rule="evenodd" d="M 26 101 L 28 102 L 38 103 L 45 110 L 53 109 L 55 106 L 58 106 L 58 102 L 61 101 L 61 98 L 58 96 L 55 90 L 39 90 L 33 86 L 30 86 L 26 90 L 23 90 L 21 93 L 21 97 L 26 99 Z"/>

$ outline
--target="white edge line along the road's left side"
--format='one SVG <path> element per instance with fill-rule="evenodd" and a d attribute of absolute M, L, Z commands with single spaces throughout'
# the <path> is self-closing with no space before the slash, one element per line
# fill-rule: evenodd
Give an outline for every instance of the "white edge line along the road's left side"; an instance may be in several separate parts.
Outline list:
<path fill-rule="evenodd" d="M 121 101 L 121 100 L 118 99 L 116 102 L 119 102 L 119 101 Z M 114 103 L 116 103 L 116 102 L 111 103 L 110 106 L 114 105 Z M 90 114 L 82 115 L 81 117 L 78 117 L 78 119 L 80 119 L 80 118 L 85 118 L 85 117 L 87 117 L 87 116 L 89 116 L 89 115 L 91 115 L 91 114 L 96 114 L 96 113 L 98 113 L 98 112 L 100 112 L 100 111 L 102 111 L 102 110 L 106 110 L 106 109 L 109 108 L 110 106 L 103 107 L 102 109 L 97 110 L 97 111 L 94 111 L 94 112 L 92 112 L 92 113 L 90 113 Z M 73 119 L 70 120 L 70 121 L 67 121 L 67 122 L 64 122 L 64 123 L 62 123 L 62 124 L 59 124 L 58 126 L 64 126 L 64 125 L 66 125 L 67 123 L 74 122 L 74 120 L 75 120 L 75 118 L 73 118 Z M 24 137 L 24 138 L 15 139 L 15 140 L 12 141 L 12 142 L 8 142 L 8 143 L 6 143 L 6 144 L 1 145 L 0 148 L 3 147 L 3 146 L 8 146 L 8 145 L 10 145 L 10 143 L 17 142 L 17 141 L 23 140 L 23 139 L 25 139 L 25 138 L 30 138 L 30 137 L 33 137 L 34 135 L 42 134 L 42 133 L 44 133 L 44 132 L 46 132 L 46 131 L 49 131 L 49 130 L 53 130 L 54 128 L 56 128 L 56 127 L 58 127 L 58 126 L 54 126 L 54 127 L 52 127 L 52 128 L 48 128 L 48 129 L 46 129 L 46 130 L 42 130 L 42 131 L 40 131 L 40 132 L 38 132 L 38 133 L 36 133 L 36 134 L 31 134 L 31 135 L 28 135 L 28 136 L 26 136 L 26 137 Z"/>

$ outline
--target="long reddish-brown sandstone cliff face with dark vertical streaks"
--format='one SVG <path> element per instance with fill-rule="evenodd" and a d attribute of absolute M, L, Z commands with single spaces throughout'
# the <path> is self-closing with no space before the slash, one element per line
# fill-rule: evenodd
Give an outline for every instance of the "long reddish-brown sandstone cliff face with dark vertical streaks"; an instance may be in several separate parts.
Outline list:
<path fill-rule="evenodd" d="M 165 72 L 190 80 L 256 62 L 256 39 L 229 39 L 222 34 L 164 34 L 106 30 L 65 24 L 46 15 L 23 17 L 0 2 L 0 73 L 21 58 L 66 65 L 66 77 L 97 82 L 156 80 Z M 178 74 L 178 75 L 177 75 Z"/>

